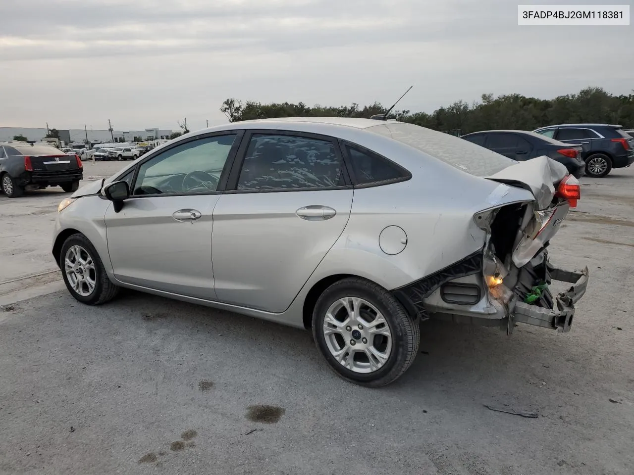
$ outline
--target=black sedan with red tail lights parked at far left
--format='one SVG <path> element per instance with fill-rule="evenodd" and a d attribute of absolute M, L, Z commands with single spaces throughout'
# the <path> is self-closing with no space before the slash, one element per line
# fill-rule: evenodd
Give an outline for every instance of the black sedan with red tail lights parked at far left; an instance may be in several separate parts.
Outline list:
<path fill-rule="evenodd" d="M 61 186 L 70 193 L 77 191 L 82 178 L 79 155 L 67 155 L 49 144 L 0 142 L 0 184 L 9 198 L 47 186 Z"/>

